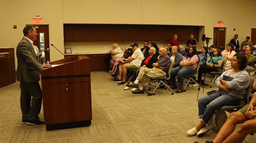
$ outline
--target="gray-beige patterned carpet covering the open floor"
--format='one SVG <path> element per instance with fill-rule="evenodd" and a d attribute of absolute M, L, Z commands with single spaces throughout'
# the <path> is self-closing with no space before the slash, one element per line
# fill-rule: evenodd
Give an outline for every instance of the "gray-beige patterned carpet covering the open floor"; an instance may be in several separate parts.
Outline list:
<path fill-rule="evenodd" d="M 20 87 L 16 82 L 0 88 L 0 143 L 203 143 L 212 140 L 216 131 L 204 137 L 188 137 L 186 131 L 197 118 L 197 88 L 171 95 L 157 89 L 154 96 L 132 94 L 117 86 L 103 71 L 91 73 L 93 120 L 89 127 L 46 131 L 45 126 L 20 124 Z M 216 89 L 202 87 L 199 97 Z M 43 120 L 43 109 L 40 112 Z M 248 135 L 243 143 L 256 143 Z"/>

